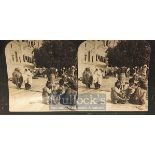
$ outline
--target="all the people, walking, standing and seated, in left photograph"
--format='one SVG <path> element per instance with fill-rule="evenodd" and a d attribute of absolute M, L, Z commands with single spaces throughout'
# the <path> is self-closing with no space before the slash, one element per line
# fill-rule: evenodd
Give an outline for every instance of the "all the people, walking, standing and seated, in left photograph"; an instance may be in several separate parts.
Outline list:
<path fill-rule="evenodd" d="M 36 75 L 38 77 L 43 75 L 42 77 L 47 79 L 45 87 L 42 88 L 42 102 L 44 104 L 76 105 L 78 86 L 75 66 L 61 69 L 51 67 L 30 70 L 26 68 L 24 71 L 15 68 L 12 73 L 12 82 L 18 89 L 30 90 Z"/>

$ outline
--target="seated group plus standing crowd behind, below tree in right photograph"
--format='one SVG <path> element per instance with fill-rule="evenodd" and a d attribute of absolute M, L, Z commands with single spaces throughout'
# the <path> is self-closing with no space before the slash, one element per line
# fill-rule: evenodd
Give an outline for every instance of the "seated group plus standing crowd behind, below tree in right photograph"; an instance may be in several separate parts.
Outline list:
<path fill-rule="evenodd" d="M 112 103 L 144 105 L 147 98 L 148 73 L 149 68 L 147 65 L 133 68 L 117 68 L 115 76 L 118 80 L 111 89 Z"/>

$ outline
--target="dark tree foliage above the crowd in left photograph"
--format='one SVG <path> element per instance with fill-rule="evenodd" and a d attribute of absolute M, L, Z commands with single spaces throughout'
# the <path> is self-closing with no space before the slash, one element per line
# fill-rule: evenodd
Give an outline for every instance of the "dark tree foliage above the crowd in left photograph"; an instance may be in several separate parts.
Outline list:
<path fill-rule="evenodd" d="M 39 49 L 34 49 L 37 67 L 71 67 L 77 65 L 78 46 L 82 41 L 43 41 Z"/>

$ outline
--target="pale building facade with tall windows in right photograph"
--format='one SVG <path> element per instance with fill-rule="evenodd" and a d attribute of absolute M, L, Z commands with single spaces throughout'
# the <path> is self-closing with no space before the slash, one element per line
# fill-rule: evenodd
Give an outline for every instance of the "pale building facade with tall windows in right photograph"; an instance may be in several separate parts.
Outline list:
<path fill-rule="evenodd" d="M 92 73 L 96 68 L 104 69 L 108 65 L 107 49 L 115 47 L 116 40 L 88 40 L 78 48 L 78 78 L 82 77 L 85 68 L 90 68 Z"/>

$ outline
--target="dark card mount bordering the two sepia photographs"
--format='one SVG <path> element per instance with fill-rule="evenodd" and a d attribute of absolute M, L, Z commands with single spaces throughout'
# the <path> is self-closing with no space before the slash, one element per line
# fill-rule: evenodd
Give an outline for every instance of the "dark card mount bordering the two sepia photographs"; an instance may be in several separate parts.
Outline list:
<path fill-rule="evenodd" d="M 9 40 L 0 41 L 0 114 L 155 114 L 155 41 L 147 41 L 151 47 L 150 55 L 150 72 L 148 81 L 148 94 L 149 94 L 149 109 L 148 112 L 9 112 L 9 90 L 8 90 L 8 77 L 7 65 L 5 60 L 5 47 Z M 82 41 L 73 41 L 78 47 Z"/>

